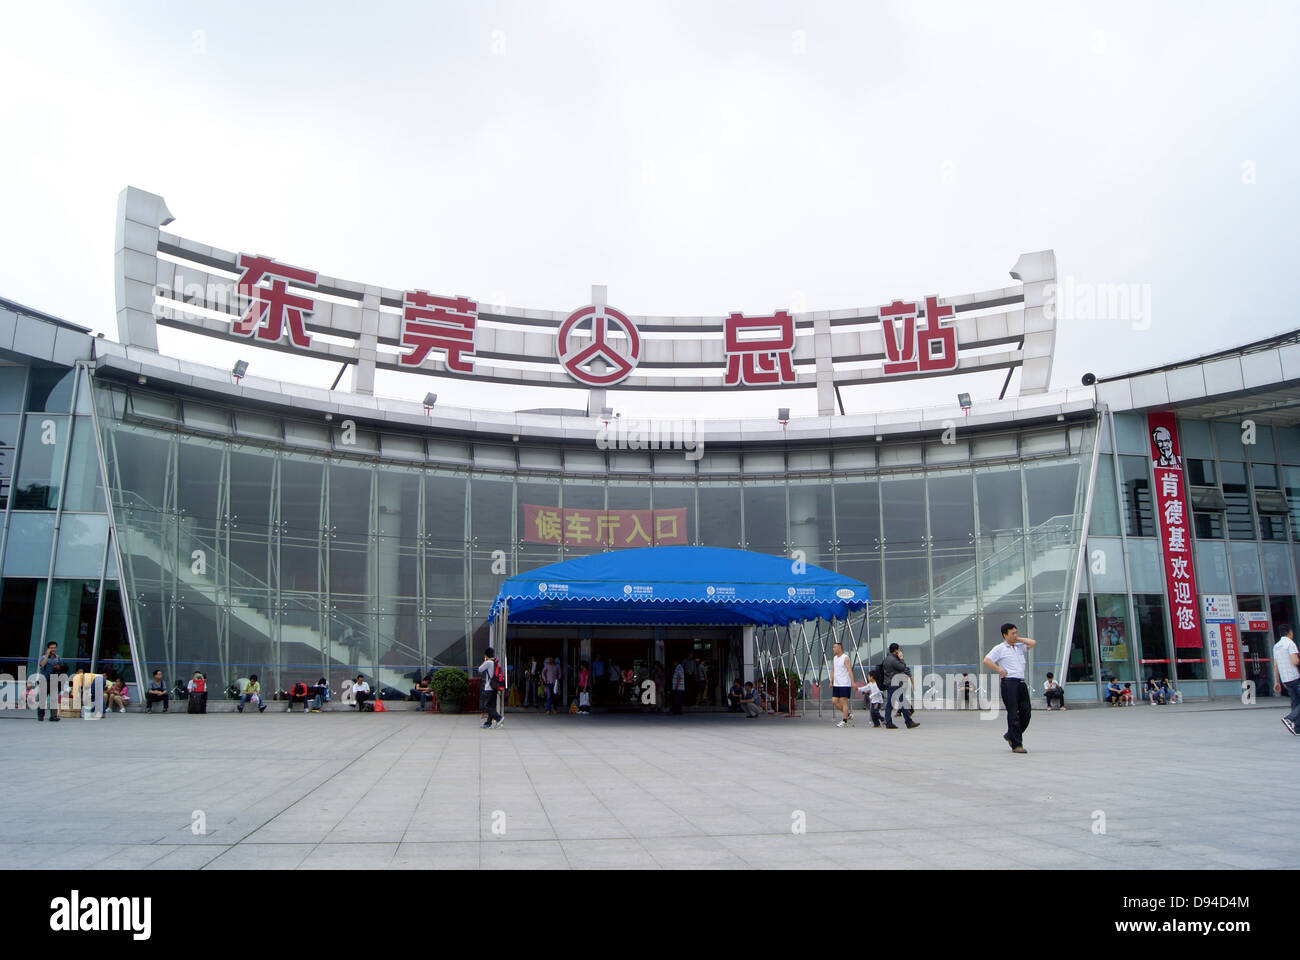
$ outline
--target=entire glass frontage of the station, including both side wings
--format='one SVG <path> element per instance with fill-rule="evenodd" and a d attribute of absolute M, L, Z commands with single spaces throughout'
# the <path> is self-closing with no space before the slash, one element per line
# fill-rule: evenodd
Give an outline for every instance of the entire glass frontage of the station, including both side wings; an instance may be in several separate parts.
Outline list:
<path fill-rule="evenodd" d="M 1179 434 L 1197 593 L 1292 622 L 1300 431 L 1180 419 Z M 958 445 L 716 442 L 694 462 L 344 431 L 84 366 L 0 364 L 0 661 L 31 670 L 55 640 L 130 682 L 203 670 L 220 691 L 256 673 L 274 691 L 365 673 L 404 691 L 477 661 L 503 579 L 658 542 L 668 528 L 637 541 L 628 518 L 670 511 L 672 542 L 868 584 L 863 658 L 898 643 L 918 674 L 978 674 L 1013 622 L 1039 644 L 1036 692 L 1053 671 L 1071 699 L 1164 675 L 1186 696 L 1239 695 L 1209 680 L 1202 648 L 1173 647 L 1145 442 L 1141 415 L 1102 411 Z M 540 526 L 575 509 L 581 522 Z M 1271 695 L 1270 635 L 1242 640 Z"/>

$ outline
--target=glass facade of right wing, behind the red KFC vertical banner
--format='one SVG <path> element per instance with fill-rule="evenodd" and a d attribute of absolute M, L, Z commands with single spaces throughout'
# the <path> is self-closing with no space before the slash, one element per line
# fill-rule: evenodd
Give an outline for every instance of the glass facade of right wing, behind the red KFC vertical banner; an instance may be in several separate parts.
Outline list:
<path fill-rule="evenodd" d="M 1152 513 L 1150 458 L 1141 414 L 1109 414 L 1113 431 L 1102 453 L 1092 494 L 1088 558 L 1082 588 L 1070 680 L 1112 678 L 1143 682 L 1175 679 L 1186 696 L 1240 696 L 1240 680 L 1210 680 L 1204 647 L 1173 647 L 1164 561 Z M 1226 594 L 1235 609 L 1268 615 L 1270 633 L 1243 633 L 1245 679 L 1256 696 L 1273 696 L 1271 633 L 1295 623 L 1296 565 L 1300 563 L 1300 431 L 1253 421 L 1178 421 L 1186 464 L 1192 555 L 1197 594 Z M 1114 502 L 1122 502 L 1117 523 Z M 1096 637 L 1087 650 L 1082 628 Z M 1078 674 L 1078 675 L 1076 675 Z M 1213 689 L 1212 689 L 1213 686 Z"/>

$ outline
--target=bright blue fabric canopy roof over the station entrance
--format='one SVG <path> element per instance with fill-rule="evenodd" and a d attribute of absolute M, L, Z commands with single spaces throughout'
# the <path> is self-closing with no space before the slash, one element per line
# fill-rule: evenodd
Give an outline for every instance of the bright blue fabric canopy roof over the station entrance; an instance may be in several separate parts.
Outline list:
<path fill-rule="evenodd" d="M 551 563 L 500 585 L 515 624 L 785 624 L 844 618 L 866 584 L 788 557 L 718 546 L 645 546 Z"/>

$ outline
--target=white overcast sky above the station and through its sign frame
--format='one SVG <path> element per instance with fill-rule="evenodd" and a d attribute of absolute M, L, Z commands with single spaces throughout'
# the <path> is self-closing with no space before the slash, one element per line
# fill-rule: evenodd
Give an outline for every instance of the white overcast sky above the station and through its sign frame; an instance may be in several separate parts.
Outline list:
<path fill-rule="evenodd" d="M 602 282 L 629 313 L 871 306 L 1011 285 L 1019 254 L 1050 247 L 1063 282 L 1134 284 L 1150 306 L 1062 319 L 1065 388 L 1300 327 L 1297 46 L 1290 1 L 6 5 L 0 295 L 116 336 L 129 183 L 200 242 L 546 310 Z M 251 356 L 172 332 L 162 349 Z M 918 392 L 954 386 L 845 399 Z M 810 392 L 714 411 L 777 402 L 815 412 Z"/>

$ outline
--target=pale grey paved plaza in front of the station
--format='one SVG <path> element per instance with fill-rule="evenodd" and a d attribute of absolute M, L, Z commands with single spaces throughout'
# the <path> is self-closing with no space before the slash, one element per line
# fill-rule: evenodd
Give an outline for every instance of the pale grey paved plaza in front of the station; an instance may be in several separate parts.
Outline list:
<path fill-rule="evenodd" d="M 975 712 L 911 731 L 864 712 L 845 730 L 815 712 L 514 713 L 495 731 L 410 712 L 9 713 L 0 852 L 99 869 L 1294 868 L 1283 702 L 1035 710 L 1024 756 Z"/>

